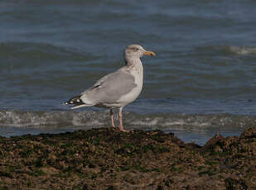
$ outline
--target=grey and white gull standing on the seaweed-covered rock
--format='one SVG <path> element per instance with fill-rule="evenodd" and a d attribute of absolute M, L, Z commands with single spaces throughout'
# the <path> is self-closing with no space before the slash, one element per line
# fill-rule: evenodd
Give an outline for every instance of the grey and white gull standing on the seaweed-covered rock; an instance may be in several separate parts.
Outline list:
<path fill-rule="evenodd" d="M 153 51 L 147 51 L 141 45 L 128 45 L 123 52 L 125 65 L 100 78 L 94 86 L 85 90 L 78 96 L 71 97 L 65 104 L 73 104 L 74 107 L 105 107 L 109 108 L 111 124 L 114 124 L 114 109 L 119 109 L 119 130 L 128 132 L 123 126 L 123 107 L 133 102 L 142 92 L 143 66 L 141 57 L 143 55 L 155 56 Z"/>

